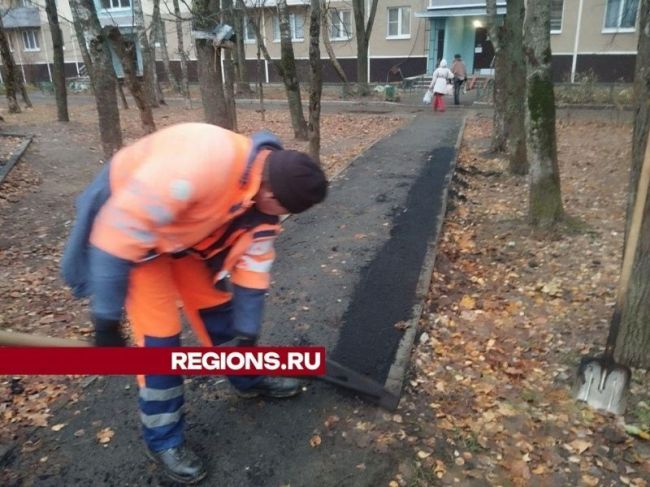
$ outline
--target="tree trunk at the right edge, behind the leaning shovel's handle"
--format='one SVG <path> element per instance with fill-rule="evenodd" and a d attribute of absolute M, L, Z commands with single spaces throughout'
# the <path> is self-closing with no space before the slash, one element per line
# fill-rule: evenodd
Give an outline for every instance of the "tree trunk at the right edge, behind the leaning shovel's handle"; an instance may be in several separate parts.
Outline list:
<path fill-rule="evenodd" d="M 635 118 L 628 196 L 629 229 L 650 130 L 650 2 L 639 4 L 639 43 L 634 76 Z M 627 235 L 627 231 L 626 231 Z M 640 241 L 616 340 L 615 358 L 630 367 L 650 369 L 650 198 L 646 199 Z"/>

